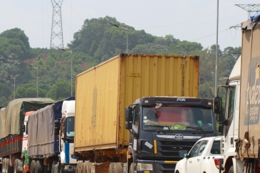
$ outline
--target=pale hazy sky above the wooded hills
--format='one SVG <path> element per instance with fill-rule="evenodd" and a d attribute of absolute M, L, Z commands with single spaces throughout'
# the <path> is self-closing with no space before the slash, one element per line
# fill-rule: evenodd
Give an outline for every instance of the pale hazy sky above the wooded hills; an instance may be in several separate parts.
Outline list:
<path fill-rule="evenodd" d="M 0 33 L 20 28 L 31 48 L 50 48 L 52 1 L 62 0 L 1 0 Z M 259 1 L 219 0 L 218 43 L 222 51 L 241 46 L 241 29 L 232 26 L 246 21 L 248 12 L 236 4 Z M 105 16 L 153 36 L 171 34 L 180 41 L 201 43 L 204 48 L 217 43 L 217 0 L 63 0 L 61 16 L 65 48 L 85 19 Z"/>

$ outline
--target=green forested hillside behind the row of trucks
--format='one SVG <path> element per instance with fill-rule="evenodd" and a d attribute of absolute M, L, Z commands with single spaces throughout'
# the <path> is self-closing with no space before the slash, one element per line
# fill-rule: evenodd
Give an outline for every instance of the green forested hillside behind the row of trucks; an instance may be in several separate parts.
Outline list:
<path fill-rule="evenodd" d="M 78 73 L 119 53 L 126 53 L 126 31 L 110 23 L 126 27 L 109 16 L 86 19 L 80 31 L 74 33 L 73 41 L 65 46 L 73 51 L 73 95 Z M 227 80 L 240 50 L 240 47 L 218 49 L 219 84 Z M 203 48 L 200 43 L 180 41 L 170 34 L 157 37 L 128 26 L 128 53 L 200 56 L 199 96 L 214 97 L 216 45 Z M 37 76 L 38 97 L 61 100 L 71 96 L 71 53 L 59 49 L 31 48 L 29 38 L 20 28 L 0 33 L 0 106 L 6 106 L 14 97 L 37 97 Z"/>

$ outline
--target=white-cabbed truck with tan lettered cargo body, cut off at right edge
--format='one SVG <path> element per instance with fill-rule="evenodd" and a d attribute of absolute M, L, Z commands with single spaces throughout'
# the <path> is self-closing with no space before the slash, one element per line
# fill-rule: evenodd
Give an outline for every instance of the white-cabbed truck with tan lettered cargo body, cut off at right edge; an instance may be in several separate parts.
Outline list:
<path fill-rule="evenodd" d="M 225 88 L 225 102 L 217 94 L 214 112 L 224 126 L 221 172 L 260 172 L 259 64 L 260 23 L 241 23 L 241 57 L 237 60 Z M 222 106 L 222 104 L 224 106 Z"/>

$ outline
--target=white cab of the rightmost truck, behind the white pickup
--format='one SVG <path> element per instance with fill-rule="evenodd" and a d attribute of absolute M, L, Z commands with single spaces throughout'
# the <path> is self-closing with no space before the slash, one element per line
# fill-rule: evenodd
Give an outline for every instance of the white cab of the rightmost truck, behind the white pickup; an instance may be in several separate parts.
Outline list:
<path fill-rule="evenodd" d="M 223 137 L 221 139 L 221 154 L 224 156 L 223 163 L 220 165 L 222 172 L 243 172 L 243 167 L 233 165 L 243 165 L 236 159 L 236 140 L 239 135 L 239 97 L 240 97 L 240 74 L 241 57 L 238 58 L 232 73 L 229 75 L 226 85 L 220 85 L 227 90 L 224 105 L 224 121 L 219 125 L 224 126 Z M 218 96 L 217 96 L 218 97 Z M 219 115 L 220 116 L 220 115 Z M 221 121 L 221 120 L 219 120 Z M 241 163 L 237 163 L 241 162 Z"/>

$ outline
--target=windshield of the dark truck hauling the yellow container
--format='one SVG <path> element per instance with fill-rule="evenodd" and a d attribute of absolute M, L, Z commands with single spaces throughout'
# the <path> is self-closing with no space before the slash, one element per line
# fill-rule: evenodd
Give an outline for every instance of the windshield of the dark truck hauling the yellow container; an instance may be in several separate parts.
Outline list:
<path fill-rule="evenodd" d="M 212 108 L 204 106 L 155 105 L 143 108 L 142 127 L 145 130 L 192 130 L 199 127 L 203 131 L 213 131 Z"/>

